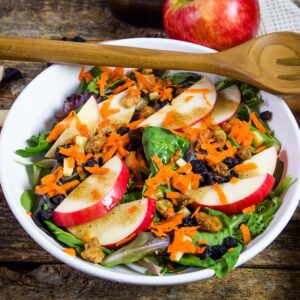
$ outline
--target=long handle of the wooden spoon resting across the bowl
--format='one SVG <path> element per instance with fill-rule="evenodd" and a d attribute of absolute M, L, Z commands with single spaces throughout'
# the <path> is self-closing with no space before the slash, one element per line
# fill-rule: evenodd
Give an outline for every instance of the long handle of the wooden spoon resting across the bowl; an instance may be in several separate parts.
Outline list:
<path fill-rule="evenodd" d="M 222 73 L 213 54 L 19 37 L 0 37 L 0 59 Z"/>

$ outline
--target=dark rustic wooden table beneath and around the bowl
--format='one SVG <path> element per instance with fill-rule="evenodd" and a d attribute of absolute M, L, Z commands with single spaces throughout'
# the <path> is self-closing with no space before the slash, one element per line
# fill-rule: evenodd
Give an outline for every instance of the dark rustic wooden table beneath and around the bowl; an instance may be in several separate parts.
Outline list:
<path fill-rule="evenodd" d="M 0 34 L 88 40 L 164 37 L 161 29 L 135 28 L 114 19 L 106 1 L 0 1 Z M 1 63 L 1 62 L 0 62 Z M 9 109 L 23 88 L 46 68 L 4 62 L 24 78 L 0 86 L 0 109 Z M 299 99 L 300 101 L 300 99 Z M 290 100 L 300 121 L 300 105 Z M 0 189 L 0 299 L 296 299 L 300 297 L 300 209 L 280 236 L 224 280 L 174 287 L 138 287 L 99 280 L 56 260 L 21 228 Z"/>

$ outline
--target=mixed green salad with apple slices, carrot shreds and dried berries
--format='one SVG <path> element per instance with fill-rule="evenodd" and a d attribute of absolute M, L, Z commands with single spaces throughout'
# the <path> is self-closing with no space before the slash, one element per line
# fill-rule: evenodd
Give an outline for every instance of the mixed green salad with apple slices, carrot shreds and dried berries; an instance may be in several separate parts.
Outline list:
<path fill-rule="evenodd" d="M 82 68 L 53 127 L 16 153 L 26 213 L 69 255 L 223 277 L 291 183 L 259 91 L 191 72 Z"/>

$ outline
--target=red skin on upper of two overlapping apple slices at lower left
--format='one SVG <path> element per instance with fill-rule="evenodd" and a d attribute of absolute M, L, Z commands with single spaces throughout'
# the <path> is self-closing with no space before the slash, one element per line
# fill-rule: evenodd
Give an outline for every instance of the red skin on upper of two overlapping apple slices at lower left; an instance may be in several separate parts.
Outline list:
<path fill-rule="evenodd" d="M 128 167 L 122 159 L 120 160 L 122 162 L 121 172 L 110 192 L 103 197 L 101 201 L 98 201 L 95 205 L 89 206 L 85 209 L 70 213 L 61 213 L 54 210 L 53 222 L 62 227 L 82 225 L 104 216 L 114 206 L 116 206 L 116 204 L 119 203 L 122 196 L 125 194 L 127 182 L 129 180 Z M 106 201 L 110 204 L 106 205 Z"/>

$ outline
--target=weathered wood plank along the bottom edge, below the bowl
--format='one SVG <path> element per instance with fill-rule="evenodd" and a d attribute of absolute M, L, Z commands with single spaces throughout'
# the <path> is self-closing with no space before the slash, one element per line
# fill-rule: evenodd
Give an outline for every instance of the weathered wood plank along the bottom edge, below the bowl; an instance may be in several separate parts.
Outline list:
<path fill-rule="evenodd" d="M 19 299 L 297 299 L 300 271 L 237 269 L 181 286 L 147 287 L 93 278 L 65 265 L 18 272 L 0 268 L 0 298 Z"/>

